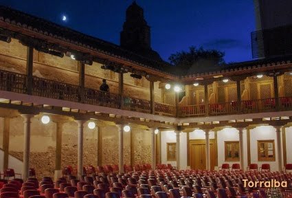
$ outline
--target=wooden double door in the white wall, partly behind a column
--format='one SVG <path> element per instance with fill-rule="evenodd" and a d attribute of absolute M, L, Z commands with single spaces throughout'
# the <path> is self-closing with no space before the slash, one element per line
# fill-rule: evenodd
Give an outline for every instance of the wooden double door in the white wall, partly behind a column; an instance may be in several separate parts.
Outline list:
<path fill-rule="evenodd" d="M 214 170 L 215 166 L 214 140 L 210 140 L 210 166 Z M 205 170 L 205 140 L 190 140 L 190 168 L 194 170 Z"/>

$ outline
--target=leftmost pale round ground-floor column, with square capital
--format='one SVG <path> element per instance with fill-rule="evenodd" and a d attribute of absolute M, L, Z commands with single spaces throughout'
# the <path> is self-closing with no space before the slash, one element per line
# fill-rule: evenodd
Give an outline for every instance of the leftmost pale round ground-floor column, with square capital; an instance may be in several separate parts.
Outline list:
<path fill-rule="evenodd" d="M 21 114 L 24 118 L 24 144 L 23 144 L 23 181 L 30 176 L 30 124 L 31 118 L 34 117 L 32 114 Z"/>

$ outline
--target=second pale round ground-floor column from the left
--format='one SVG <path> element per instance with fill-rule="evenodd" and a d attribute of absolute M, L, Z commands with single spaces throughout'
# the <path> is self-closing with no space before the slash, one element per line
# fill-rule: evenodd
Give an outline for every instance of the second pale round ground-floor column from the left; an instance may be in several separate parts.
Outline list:
<path fill-rule="evenodd" d="M 78 124 L 78 143 L 77 143 L 77 175 L 83 175 L 83 129 L 85 120 L 75 120 Z"/>

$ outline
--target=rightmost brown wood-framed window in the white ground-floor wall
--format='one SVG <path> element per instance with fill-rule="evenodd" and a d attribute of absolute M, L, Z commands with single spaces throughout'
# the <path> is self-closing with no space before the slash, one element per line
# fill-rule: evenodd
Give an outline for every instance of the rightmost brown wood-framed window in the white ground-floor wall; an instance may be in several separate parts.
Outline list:
<path fill-rule="evenodd" d="M 258 161 L 275 161 L 274 140 L 258 140 Z"/>

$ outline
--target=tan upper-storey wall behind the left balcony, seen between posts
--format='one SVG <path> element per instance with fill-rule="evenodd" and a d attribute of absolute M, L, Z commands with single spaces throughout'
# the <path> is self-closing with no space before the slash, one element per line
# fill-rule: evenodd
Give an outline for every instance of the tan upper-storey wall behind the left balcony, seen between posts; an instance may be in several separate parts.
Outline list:
<path fill-rule="evenodd" d="M 0 45 L 0 69 L 25 74 L 27 47 L 12 39 L 11 43 Z M 78 85 L 78 61 L 68 56 L 60 58 L 34 50 L 33 75 L 62 83 Z M 107 80 L 110 91 L 118 93 L 118 74 L 101 69 L 100 63 L 85 65 L 85 87 L 99 89 L 102 78 Z M 159 82 L 155 83 L 155 101 L 161 102 Z M 124 74 L 124 94 L 134 98 L 150 100 L 149 82 L 132 78 L 129 73 Z"/>

